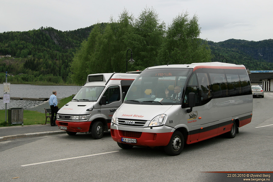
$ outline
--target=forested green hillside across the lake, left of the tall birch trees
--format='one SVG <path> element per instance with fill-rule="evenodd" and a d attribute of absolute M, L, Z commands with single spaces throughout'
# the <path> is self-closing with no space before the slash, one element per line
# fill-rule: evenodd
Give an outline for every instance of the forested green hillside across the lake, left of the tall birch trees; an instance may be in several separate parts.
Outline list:
<path fill-rule="evenodd" d="M 13 83 L 71 84 L 69 73 L 73 52 L 92 29 L 93 26 L 89 26 L 62 32 L 41 27 L 26 32 L 0 33 L 0 56 L 11 55 L 0 59 L 0 72 L 14 75 L 9 78 Z M 24 76 L 18 76 L 20 73 Z"/>

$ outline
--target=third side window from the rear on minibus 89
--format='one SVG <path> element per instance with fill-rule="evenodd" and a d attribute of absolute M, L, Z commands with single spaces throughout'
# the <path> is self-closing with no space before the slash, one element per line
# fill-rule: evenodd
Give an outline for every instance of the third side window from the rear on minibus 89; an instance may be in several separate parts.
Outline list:
<path fill-rule="evenodd" d="M 228 97 L 227 79 L 224 69 L 208 69 L 213 98 Z"/>

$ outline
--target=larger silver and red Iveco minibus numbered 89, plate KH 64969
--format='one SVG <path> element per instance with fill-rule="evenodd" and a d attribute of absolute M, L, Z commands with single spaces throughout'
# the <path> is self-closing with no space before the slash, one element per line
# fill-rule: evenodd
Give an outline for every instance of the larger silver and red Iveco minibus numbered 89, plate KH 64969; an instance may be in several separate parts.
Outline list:
<path fill-rule="evenodd" d="M 134 80 L 113 114 L 111 136 L 123 149 L 163 146 L 169 155 L 184 143 L 225 134 L 251 122 L 246 68 L 221 62 L 154 66 Z"/>

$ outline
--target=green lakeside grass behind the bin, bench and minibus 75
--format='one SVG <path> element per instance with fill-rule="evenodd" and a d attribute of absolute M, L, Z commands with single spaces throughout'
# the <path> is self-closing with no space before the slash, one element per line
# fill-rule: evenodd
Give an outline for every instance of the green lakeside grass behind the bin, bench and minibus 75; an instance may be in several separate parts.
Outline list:
<path fill-rule="evenodd" d="M 72 96 L 66 97 L 58 103 L 58 107 L 61 108 L 66 103 L 72 100 Z M 49 118 L 47 119 L 49 121 Z M 7 111 L 7 121 L 8 121 L 8 111 Z M 24 125 L 35 125 L 35 124 L 45 124 L 45 113 L 40 113 L 37 111 L 23 111 L 23 124 Z M 0 127 L 5 126 L 20 126 L 21 124 L 8 124 L 5 122 L 5 110 L 0 110 Z"/>

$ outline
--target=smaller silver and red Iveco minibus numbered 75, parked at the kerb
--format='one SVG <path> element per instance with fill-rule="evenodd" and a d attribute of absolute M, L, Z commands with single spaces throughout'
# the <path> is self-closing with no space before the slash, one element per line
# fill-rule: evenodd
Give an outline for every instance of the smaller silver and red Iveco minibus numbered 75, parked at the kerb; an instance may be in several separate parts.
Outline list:
<path fill-rule="evenodd" d="M 110 129 L 111 118 L 139 74 L 100 73 L 87 76 L 86 84 L 57 113 L 56 124 L 69 135 L 91 132 L 94 139 Z"/>

